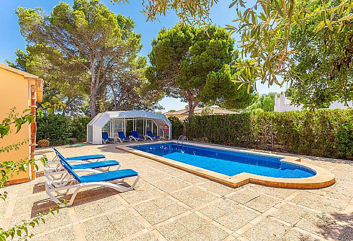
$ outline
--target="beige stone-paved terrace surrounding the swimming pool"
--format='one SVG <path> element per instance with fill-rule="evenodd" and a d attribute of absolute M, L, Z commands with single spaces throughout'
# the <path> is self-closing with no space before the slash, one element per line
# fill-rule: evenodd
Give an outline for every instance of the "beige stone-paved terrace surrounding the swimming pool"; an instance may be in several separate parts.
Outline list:
<path fill-rule="evenodd" d="M 336 175 L 336 183 L 322 189 L 230 188 L 115 146 L 58 149 L 68 157 L 104 154 L 119 160 L 122 168 L 141 173 L 135 190 L 81 191 L 73 206 L 32 229 L 31 240 L 353 240 L 353 162 L 302 157 Z M 54 156 L 49 148 L 37 154 Z M 45 177 L 38 176 L 6 187 L 8 199 L 0 202 L 4 229 L 56 207 L 45 192 Z"/>

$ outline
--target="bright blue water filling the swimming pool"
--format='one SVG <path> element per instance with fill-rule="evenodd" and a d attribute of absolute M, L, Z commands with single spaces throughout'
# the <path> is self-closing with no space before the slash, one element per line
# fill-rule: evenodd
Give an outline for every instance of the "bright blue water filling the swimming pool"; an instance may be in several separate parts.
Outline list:
<path fill-rule="evenodd" d="M 148 144 L 132 148 L 213 172 L 234 176 L 250 173 L 278 178 L 305 178 L 316 173 L 308 168 L 281 162 L 279 157 L 195 147 L 176 143 Z"/>

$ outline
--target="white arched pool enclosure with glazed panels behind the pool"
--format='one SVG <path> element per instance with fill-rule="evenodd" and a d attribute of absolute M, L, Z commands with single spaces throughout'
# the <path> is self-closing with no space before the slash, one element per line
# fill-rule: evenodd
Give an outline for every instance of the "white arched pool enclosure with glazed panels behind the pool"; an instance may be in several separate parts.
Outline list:
<path fill-rule="evenodd" d="M 165 125 L 169 128 L 168 132 L 163 131 L 167 130 Z M 87 142 L 101 144 L 102 132 L 108 132 L 109 137 L 115 138 L 119 131 L 123 131 L 127 137 L 131 135 L 131 131 L 137 131 L 140 136 L 152 131 L 153 135 L 162 137 L 169 135 L 171 139 L 171 128 L 164 114 L 140 110 L 107 111 L 97 114 L 87 124 Z"/>

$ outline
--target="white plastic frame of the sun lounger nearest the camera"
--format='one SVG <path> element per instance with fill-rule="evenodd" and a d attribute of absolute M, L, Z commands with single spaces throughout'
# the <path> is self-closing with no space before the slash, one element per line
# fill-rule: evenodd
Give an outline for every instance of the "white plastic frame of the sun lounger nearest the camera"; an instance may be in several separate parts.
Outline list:
<path fill-rule="evenodd" d="M 78 172 L 92 172 L 92 173 L 101 173 L 100 171 L 97 170 L 92 170 L 92 169 L 84 169 L 84 170 L 76 170 L 76 173 Z M 121 185 L 120 183 L 124 182 L 124 179 L 120 179 L 118 183 L 112 183 L 112 182 L 84 182 L 84 183 L 79 183 L 76 179 L 74 179 L 68 172 L 65 174 L 62 174 L 62 178 L 59 180 L 53 180 L 53 181 L 48 181 L 46 184 L 46 192 L 48 196 L 57 204 L 59 204 L 60 207 L 65 207 L 65 206 L 71 206 L 76 198 L 76 195 L 78 191 L 83 188 L 83 187 L 89 187 L 89 186 L 106 186 L 106 187 L 111 187 L 115 190 L 118 190 L 120 192 L 124 191 L 129 191 L 135 188 L 137 182 L 140 179 L 140 174 L 137 175 L 136 180 L 134 181 L 133 185 L 130 187 L 126 187 Z M 71 199 L 68 204 L 64 204 L 60 202 L 52 192 L 56 192 L 58 195 L 65 195 L 68 193 L 68 191 L 71 188 L 75 188 L 75 191 L 73 195 L 71 196 Z M 64 192 L 60 192 L 64 190 Z"/>

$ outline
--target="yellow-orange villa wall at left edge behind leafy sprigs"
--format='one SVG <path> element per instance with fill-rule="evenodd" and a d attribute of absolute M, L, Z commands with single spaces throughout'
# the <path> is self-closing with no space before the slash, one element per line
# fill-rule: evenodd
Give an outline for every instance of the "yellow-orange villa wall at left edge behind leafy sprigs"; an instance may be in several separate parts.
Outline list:
<path fill-rule="evenodd" d="M 29 82 L 24 76 L 12 73 L 3 68 L 0 68 L 0 122 L 7 116 L 10 109 L 16 107 L 16 112 L 20 115 L 24 109 L 29 108 L 30 91 Z M 15 134 L 15 131 L 4 137 L 0 138 L 0 147 L 6 147 L 10 144 L 29 139 L 29 125 L 25 124 L 21 130 Z M 26 143 L 16 151 L 9 153 L 0 153 L 0 162 L 3 161 L 18 161 L 23 158 L 30 157 L 29 144 Z M 30 180 L 30 173 L 19 173 L 14 175 L 11 183 L 25 182 Z"/>

